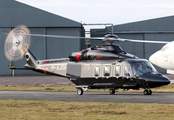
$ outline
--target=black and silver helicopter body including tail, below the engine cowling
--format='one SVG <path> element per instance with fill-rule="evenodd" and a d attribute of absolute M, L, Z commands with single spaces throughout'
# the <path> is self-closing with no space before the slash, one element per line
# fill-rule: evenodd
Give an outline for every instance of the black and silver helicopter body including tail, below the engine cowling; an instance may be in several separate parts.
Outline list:
<path fill-rule="evenodd" d="M 44 74 L 66 77 L 76 88 L 139 89 L 170 83 L 145 59 L 111 59 L 70 61 L 69 58 L 37 60 L 31 51 L 25 54 L 26 68 Z M 142 67 L 141 70 L 139 67 Z"/>

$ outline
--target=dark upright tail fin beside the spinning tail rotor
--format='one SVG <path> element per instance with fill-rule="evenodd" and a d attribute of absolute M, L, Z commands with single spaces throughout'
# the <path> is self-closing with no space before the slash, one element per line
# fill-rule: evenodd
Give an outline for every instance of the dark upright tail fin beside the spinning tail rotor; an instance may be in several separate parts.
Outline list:
<path fill-rule="evenodd" d="M 35 68 L 38 64 L 38 59 L 29 49 L 28 52 L 25 53 L 25 60 L 27 61 L 27 64 L 25 65 L 26 68 Z"/>

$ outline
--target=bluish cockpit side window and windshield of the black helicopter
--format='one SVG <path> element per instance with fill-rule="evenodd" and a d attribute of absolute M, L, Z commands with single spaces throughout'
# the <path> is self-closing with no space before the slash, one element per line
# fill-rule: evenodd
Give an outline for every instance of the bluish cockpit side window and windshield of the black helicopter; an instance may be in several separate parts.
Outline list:
<path fill-rule="evenodd" d="M 153 65 L 148 61 L 133 63 L 133 71 L 135 76 L 141 76 L 149 72 L 157 72 Z"/>

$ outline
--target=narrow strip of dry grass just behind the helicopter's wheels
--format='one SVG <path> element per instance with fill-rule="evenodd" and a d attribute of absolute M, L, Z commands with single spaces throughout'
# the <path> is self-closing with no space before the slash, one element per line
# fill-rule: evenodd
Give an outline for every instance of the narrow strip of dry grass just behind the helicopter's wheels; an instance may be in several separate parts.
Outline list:
<path fill-rule="evenodd" d="M 22 91 L 77 91 L 75 85 L 9 85 L 0 86 L 0 90 L 22 90 Z M 153 92 L 172 92 L 174 93 L 174 84 L 169 84 L 167 86 L 158 87 L 151 89 Z M 103 91 L 101 90 L 89 90 L 89 91 Z M 106 90 L 108 91 L 108 90 Z M 119 89 L 118 92 L 122 92 Z M 143 92 L 144 89 L 140 90 L 129 90 L 128 92 Z M 127 91 L 126 91 L 127 92 Z"/>

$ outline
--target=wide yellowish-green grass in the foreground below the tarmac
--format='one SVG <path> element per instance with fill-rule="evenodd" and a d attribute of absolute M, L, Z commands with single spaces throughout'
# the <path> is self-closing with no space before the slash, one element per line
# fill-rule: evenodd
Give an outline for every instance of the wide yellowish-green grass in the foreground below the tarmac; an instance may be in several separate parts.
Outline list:
<path fill-rule="evenodd" d="M 173 120 L 174 104 L 0 100 L 3 120 Z"/>

